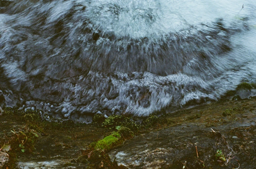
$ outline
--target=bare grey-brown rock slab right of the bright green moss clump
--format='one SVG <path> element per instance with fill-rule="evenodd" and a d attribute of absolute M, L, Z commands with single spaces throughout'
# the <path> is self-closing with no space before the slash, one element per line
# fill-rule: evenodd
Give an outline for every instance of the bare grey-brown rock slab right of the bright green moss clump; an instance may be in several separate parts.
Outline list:
<path fill-rule="evenodd" d="M 124 165 L 130 169 L 182 168 L 182 163 L 186 163 L 185 165 L 190 169 L 203 168 L 204 165 L 207 167 L 218 166 L 218 162 L 214 162 L 214 157 L 217 149 L 221 150 L 218 143 L 223 140 L 222 136 L 231 138 L 231 140 L 224 138 L 229 147 L 235 147 L 235 144 L 241 146 L 242 141 L 244 141 L 243 138 L 233 136 L 232 133 L 228 132 L 244 132 L 246 131 L 244 128 L 255 124 L 255 119 L 254 117 L 250 120 L 244 120 L 242 123 L 232 122 L 228 125 L 218 126 L 218 129 L 215 130 L 220 132 L 216 133 L 208 127 L 198 127 L 194 123 L 170 127 L 128 140 L 122 148 L 111 151 L 109 155 L 112 161 L 115 160 L 118 165 Z M 235 131 L 238 128 L 242 131 Z M 250 139 L 255 140 L 253 136 Z M 199 158 L 196 158 L 195 146 L 197 146 Z M 244 153 L 252 155 L 255 152 L 254 150 L 244 150 L 233 152 L 233 156 L 241 160 Z M 235 160 L 233 163 L 237 164 Z M 239 163 L 245 168 L 253 168 L 253 165 L 256 164 L 249 164 L 246 160 L 239 161 Z"/>

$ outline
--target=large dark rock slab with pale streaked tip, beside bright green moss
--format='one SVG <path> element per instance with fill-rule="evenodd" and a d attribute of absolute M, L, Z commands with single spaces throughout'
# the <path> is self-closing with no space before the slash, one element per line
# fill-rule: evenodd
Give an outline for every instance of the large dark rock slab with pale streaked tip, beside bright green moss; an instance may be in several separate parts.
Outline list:
<path fill-rule="evenodd" d="M 207 117 L 217 123 L 221 121 L 223 123 L 209 127 Z M 109 155 L 119 165 L 131 169 L 182 168 L 184 164 L 189 169 L 204 166 L 219 168 L 219 165 L 224 168 L 234 166 L 237 168 L 239 165 L 240 168 L 254 168 L 256 164 L 255 121 L 255 112 L 237 114 L 236 117 L 228 119 L 222 116 L 216 117 L 214 113 L 208 114 L 194 122 L 185 122 L 130 139 L 122 148 L 111 151 Z M 195 146 L 197 146 L 199 158 L 196 157 Z M 222 150 L 225 156 L 233 149 L 230 158 L 234 158 L 230 159 L 231 163 L 227 166 L 221 162 L 218 164 L 215 158 L 218 149 Z"/>

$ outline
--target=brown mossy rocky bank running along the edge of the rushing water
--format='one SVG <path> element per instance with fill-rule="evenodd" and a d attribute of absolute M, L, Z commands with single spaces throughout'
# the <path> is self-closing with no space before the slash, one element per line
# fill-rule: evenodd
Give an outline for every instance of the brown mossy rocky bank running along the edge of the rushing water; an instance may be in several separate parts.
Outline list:
<path fill-rule="evenodd" d="M 120 133 L 119 128 L 106 127 L 115 118 L 103 123 L 98 118 L 98 123 L 87 125 L 46 121 L 35 125 L 29 122 L 35 118 L 32 114 L 25 118 L 28 115 L 3 113 L 0 146 L 11 146 L 3 168 L 253 168 L 255 107 L 256 98 L 219 101 L 144 119 L 139 131 L 125 130 L 128 134 L 120 136 L 113 135 Z M 29 130 L 38 137 L 33 135 L 33 144 L 23 152 L 13 145 L 17 136 L 11 130 Z M 96 148 L 100 140 L 112 136 L 119 141 Z"/>

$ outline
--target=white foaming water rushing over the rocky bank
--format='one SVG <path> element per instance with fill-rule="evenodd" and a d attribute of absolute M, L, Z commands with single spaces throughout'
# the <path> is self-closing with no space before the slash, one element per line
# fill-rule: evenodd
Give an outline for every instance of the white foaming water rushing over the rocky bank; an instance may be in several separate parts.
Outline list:
<path fill-rule="evenodd" d="M 1 0 L 0 78 L 2 105 L 85 122 L 218 100 L 255 81 L 256 1 Z"/>

